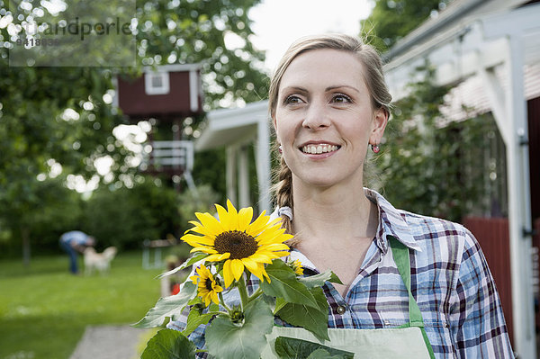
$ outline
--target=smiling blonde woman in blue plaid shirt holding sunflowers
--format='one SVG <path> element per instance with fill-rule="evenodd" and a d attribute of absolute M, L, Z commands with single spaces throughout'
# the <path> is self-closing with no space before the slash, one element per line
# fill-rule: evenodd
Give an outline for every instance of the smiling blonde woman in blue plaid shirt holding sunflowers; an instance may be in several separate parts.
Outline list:
<path fill-rule="evenodd" d="M 276 213 L 294 235 L 292 256 L 304 274 L 331 269 L 343 283 L 323 287 L 330 328 L 399 328 L 410 322 L 410 295 L 394 260 L 403 247 L 411 301 L 435 357 L 513 357 L 473 235 L 396 210 L 363 187 L 365 157 L 379 150 L 391 100 L 378 54 L 355 38 L 309 37 L 287 50 L 269 110 L 282 156 Z"/>

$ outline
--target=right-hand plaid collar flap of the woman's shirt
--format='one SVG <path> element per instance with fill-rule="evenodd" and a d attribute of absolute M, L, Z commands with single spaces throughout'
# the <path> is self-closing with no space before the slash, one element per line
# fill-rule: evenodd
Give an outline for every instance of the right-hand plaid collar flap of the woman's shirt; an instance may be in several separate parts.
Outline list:
<path fill-rule="evenodd" d="M 379 228 L 375 239 L 383 253 L 386 254 L 388 251 L 387 236 L 393 236 L 405 246 L 421 252 L 422 248 L 411 235 L 410 224 L 403 219 L 400 211 L 396 210 L 380 193 L 369 188 L 364 188 L 364 193 L 379 208 Z"/>

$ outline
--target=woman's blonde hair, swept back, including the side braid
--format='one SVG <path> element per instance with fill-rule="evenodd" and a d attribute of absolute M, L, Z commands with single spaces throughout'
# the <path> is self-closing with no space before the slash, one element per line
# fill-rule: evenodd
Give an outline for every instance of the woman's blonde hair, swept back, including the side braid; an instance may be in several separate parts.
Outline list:
<path fill-rule="evenodd" d="M 315 49 L 337 49 L 353 53 L 360 60 L 364 67 L 365 85 L 372 99 L 374 109 L 383 109 L 390 114 L 390 103 L 392 95 L 384 81 L 383 64 L 381 57 L 374 47 L 366 44 L 362 40 L 344 34 L 324 34 L 301 38 L 293 43 L 279 62 L 274 76 L 270 80 L 268 92 L 268 109 L 270 117 L 275 119 L 275 109 L 277 107 L 279 85 L 285 71 L 291 65 L 294 58 L 301 54 Z M 275 143 L 275 149 L 278 145 Z M 281 158 L 280 167 L 275 171 L 275 185 L 273 193 L 278 207 L 288 206 L 293 209 L 293 174 L 287 166 L 284 158 Z M 287 232 L 293 234 L 291 220 L 282 216 L 283 227 Z M 298 242 L 293 238 L 289 246 L 294 247 Z"/>

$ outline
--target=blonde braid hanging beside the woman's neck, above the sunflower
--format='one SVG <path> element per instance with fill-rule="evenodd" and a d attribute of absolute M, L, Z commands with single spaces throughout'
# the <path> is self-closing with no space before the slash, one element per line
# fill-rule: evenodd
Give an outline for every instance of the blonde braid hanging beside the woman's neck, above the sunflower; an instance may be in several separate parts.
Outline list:
<path fill-rule="evenodd" d="M 273 192 L 275 193 L 275 202 L 278 207 L 291 207 L 293 209 L 293 173 L 287 164 L 284 157 L 281 157 L 280 167 L 275 172 L 275 185 Z M 282 215 L 282 227 L 285 233 L 294 234 L 293 226 L 289 217 Z M 285 242 L 289 247 L 295 247 L 298 244 L 296 238 L 291 238 Z"/>

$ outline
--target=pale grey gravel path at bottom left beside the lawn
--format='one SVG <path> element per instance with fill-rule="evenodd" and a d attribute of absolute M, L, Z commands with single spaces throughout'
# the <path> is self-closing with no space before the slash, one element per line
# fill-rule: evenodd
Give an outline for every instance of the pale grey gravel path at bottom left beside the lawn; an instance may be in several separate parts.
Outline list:
<path fill-rule="evenodd" d="M 130 326 L 88 326 L 69 359 L 136 359 L 146 333 Z"/>

